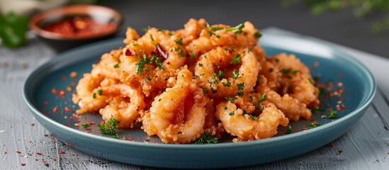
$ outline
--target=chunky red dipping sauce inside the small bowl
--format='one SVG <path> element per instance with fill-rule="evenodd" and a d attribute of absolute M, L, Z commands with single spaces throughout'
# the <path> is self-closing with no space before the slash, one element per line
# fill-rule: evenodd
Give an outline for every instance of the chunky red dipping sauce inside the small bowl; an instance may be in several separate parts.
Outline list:
<path fill-rule="evenodd" d="M 98 23 L 90 17 L 74 17 L 52 23 L 45 28 L 46 31 L 59 33 L 69 37 L 85 37 L 115 30 L 115 23 Z"/>

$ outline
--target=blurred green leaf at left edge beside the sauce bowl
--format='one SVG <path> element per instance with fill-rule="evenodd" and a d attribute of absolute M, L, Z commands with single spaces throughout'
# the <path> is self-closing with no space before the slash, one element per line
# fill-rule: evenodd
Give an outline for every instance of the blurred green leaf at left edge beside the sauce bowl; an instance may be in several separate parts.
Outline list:
<path fill-rule="evenodd" d="M 7 15 L 0 13 L 0 40 L 2 45 L 16 48 L 25 44 L 27 29 L 27 17 L 18 16 L 13 12 Z"/>

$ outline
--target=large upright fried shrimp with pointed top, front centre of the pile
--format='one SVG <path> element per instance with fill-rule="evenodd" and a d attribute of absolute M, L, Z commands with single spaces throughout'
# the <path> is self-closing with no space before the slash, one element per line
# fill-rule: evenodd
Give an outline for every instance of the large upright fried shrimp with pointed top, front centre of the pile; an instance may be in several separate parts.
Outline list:
<path fill-rule="evenodd" d="M 143 119 L 148 135 L 158 135 L 166 143 L 190 143 L 201 136 L 207 98 L 192 78 L 188 69 L 182 69 L 176 85 L 155 98 L 150 115 Z"/>

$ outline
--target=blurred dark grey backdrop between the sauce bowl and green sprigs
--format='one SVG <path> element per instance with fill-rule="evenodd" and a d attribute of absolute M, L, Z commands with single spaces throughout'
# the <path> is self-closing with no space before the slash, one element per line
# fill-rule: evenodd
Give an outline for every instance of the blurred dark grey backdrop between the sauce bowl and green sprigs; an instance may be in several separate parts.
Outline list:
<path fill-rule="evenodd" d="M 232 26 L 251 21 L 259 29 L 275 26 L 389 58 L 389 50 L 385 49 L 389 47 L 389 31 L 380 35 L 371 32 L 371 24 L 383 17 L 370 15 L 361 20 L 351 9 L 311 16 L 304 3 L 285 8 L 279 0 L 108 1 L 106 5 L 123 13 L 124 26 L 132 26 L 139 33 L 147 26 L 182 28 L 189 18 Z"/>

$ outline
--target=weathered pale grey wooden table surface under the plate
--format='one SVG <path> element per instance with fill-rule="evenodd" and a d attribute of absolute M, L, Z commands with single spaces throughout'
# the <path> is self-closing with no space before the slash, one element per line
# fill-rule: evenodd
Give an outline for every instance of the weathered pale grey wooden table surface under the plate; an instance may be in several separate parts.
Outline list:
<path fill-rule="evenodd" d="M 266 31 L 294 34 L 278 28 Z M 389 169 L 389 60 L 339 47 L 364 62 L 378 82 L 376 97 L 363 118 L 331 142 L 331 147 L 237 169 Z M 112 162 L 67 147 L 33 118 L 23 101 L 23 81 L 55 55 L 37 39 L 18 50 L 0 47 L 0 169 L 153 169 Z M 338 155 L 339 149 L 343 152 Z"/>

